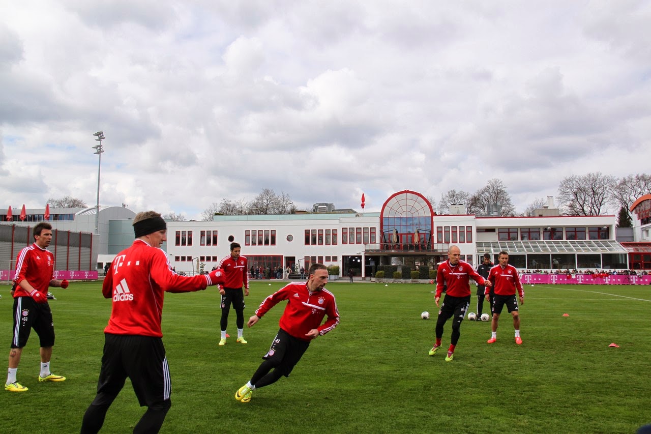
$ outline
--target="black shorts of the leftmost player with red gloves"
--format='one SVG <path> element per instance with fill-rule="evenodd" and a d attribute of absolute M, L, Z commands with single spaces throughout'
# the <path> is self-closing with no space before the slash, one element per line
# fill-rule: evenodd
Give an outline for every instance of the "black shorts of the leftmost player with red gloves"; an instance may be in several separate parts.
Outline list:
<path fill-rule="evenodd" d="M 38 334 L 41 347 L 54 345 L 54 323 L 49 304 L 39 304 L 31 297 L 14 298 L 14 338 L 11 347 L 27 345 L 32 328 Z"/>

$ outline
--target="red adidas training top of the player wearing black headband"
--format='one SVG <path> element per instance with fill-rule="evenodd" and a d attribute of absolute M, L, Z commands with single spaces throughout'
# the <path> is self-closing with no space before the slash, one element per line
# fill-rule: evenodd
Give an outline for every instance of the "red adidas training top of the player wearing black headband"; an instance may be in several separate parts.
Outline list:
<path fill-rule="evenodd" d="M 179 276 L 172 271 L 167 253 L 143 240 L 135 240 L 113 259 L 102 293 L 113 298 L 109 325 L 104 333 L 163 336 L 163 295 L 206 289 L 208 274 Z"/>

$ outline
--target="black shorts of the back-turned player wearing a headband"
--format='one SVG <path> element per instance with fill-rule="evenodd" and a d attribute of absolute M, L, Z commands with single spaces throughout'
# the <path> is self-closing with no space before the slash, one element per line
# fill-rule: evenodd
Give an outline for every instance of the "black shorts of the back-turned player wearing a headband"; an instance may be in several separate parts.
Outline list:
<path fill-rule="evenodd" d="M 104 334 L 102 370 L 93 403 L 110 404 L 110 397 L 117 396 L 127 377 L 141 407 L 156 406 L 170 399 L 172 383 L 161 338 Z"/>

